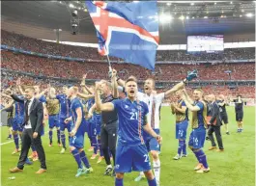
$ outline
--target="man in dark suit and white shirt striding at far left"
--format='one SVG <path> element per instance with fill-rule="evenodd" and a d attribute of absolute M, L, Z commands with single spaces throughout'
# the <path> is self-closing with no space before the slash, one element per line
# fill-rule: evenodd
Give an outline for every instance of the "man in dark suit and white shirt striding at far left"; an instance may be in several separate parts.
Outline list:
<path fill-rule="evenodd" d="M 23 121 L 24 130 L 22 133 L 22 147 L 17 166 L 11 169 L 11 173 L 22 172 L 28 151 L 33 144 L 39 155 L 41 169 L 37 173 L 46 172 L 45 154 L 42 146 L 41 133 L 43 130 L 43 103 L 34 97 L 35 89 L 28 87 L 25 89 L 25 100 L 16 95 L 11 96 L 15 101 L 25 101 L 25 119 Z"/>

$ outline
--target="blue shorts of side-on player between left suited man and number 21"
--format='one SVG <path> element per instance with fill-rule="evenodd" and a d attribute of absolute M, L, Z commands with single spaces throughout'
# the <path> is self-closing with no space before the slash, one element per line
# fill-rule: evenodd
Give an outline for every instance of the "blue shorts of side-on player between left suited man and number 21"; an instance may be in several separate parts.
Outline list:
<path fill-rule="evenodd" d="M 76 148 L 84 147 L 84 133 L 85 133 L 85 124 L 81 124 L 75 133 L 74 136 L 71 137 L 70 146 L 74 146 Z"/>

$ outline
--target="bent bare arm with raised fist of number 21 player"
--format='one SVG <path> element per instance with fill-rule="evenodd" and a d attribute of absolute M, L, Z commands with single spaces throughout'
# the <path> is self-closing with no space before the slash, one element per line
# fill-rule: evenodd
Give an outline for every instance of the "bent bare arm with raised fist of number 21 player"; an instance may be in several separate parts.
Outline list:
<path fill-rule="evenodd" d="M 111 102 L 102 103 L 100 99 L 100 82 L 95 83 L 95 102 L 98 111 L 113 111 L 114 104 Z"/>

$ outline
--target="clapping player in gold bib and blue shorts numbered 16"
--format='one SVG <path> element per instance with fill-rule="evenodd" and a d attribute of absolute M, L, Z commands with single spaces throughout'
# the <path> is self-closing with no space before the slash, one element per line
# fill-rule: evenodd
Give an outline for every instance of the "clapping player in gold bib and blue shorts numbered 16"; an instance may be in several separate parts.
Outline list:
<path fill-rule="evenodd" d="M 202 99 L 203 91 L 200 89 L 194 90 L 194 101 L 188 96 L 185 90 L 182 93 L 182 99 L 189 111 L 192 112 L 192 131 L 190 133 L 188 146 L 194 152 L 198 165 L 194 168 L 196 173 L 208 173 L 210 168 L 207 163 L 206 154 L 203 151 L 206 138 L 207 128 L 207 105 Z"/>

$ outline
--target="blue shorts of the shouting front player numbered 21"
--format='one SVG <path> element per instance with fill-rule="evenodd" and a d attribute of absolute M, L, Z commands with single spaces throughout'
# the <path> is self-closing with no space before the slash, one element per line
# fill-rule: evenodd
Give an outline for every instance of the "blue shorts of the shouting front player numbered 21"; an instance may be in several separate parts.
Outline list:
<path fill-rule="evenodd" d="M 116 149 L 116 173 L 146 172 L 151 170 L 151 162 L 145 145 L 122 146 Z"/>

